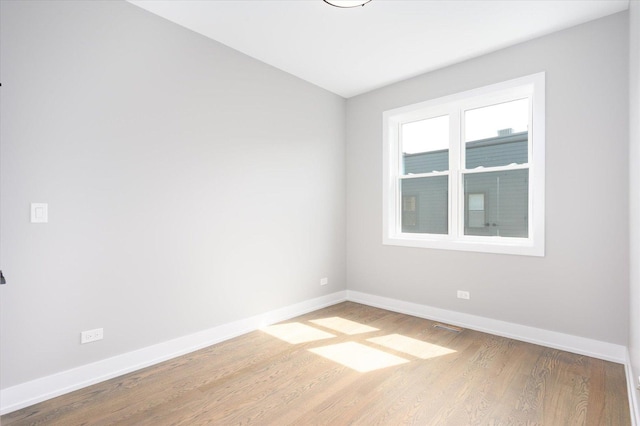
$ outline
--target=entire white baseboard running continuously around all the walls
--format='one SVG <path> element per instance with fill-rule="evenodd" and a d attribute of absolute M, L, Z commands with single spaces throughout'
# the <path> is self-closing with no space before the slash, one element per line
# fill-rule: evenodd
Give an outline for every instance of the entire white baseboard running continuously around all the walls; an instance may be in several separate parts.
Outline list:
<path fill-rule="evenodd" d="M 629 355 L 624 346 L 351 290 L 223 324 L 0 390 L 0 414 L 10 413 L 345 300 L 624 364 L 630 386 L 630 409 L 635 410 L 632 412 L 633 424 L 640 420 L 638 402 L 634 399 L 637 394 L 632 389 L 635 381 L 630 377 L 632 372 Z"/>

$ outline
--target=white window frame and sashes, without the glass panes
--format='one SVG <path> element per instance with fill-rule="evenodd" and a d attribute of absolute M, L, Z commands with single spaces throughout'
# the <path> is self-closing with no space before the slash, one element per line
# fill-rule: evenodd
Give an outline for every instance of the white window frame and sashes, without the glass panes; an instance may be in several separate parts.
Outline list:
<path fill-rule="evenodd" d="M 482 172 L 529 170 L 528 238 L 464 235 L 465 110 L 509 100 L 528 98 L 529 162 L 526 165 L 486 167 Z M 452 113 L 452 111 L 458 111 Z M 402 176 L 401 127 L 403 123 L 449 115 L 449 170 L 419 177 L 449 176 L 448 234 L 402 232 L 400 182 Z M 383 113 L 383 244 L 406 247 L 544 256 L 545 249 L 545 73 L 537 73 L 408 105 Z"/>

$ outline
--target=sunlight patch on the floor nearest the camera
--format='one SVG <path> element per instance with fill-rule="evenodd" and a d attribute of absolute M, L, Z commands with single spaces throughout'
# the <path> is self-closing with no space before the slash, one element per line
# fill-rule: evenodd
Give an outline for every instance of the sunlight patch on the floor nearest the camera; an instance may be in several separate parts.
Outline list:
<path fill-rule="evenodd" d="M 338 343 L 309 350 L 314 354 L 323 356 L 360 373 L 409 362 L 399 356 L 391 355 L 356 342 Z"/>

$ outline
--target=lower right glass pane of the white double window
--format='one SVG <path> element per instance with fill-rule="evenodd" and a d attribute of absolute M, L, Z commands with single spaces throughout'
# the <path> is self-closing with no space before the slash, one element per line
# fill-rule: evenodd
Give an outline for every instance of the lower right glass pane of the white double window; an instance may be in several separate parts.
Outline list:
<path fill-rule="evenodd" d="M 464 234 L 527 238 L 529 170 L 464 176 Z"/>

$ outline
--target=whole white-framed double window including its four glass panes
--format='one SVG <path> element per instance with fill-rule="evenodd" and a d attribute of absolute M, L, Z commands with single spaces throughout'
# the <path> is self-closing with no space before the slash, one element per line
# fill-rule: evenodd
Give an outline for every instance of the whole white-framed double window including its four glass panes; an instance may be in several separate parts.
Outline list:
<path fill-rule="evenodd" d="M 544 73 L 383 119 L 385 244 L 544 256 Z"/>

